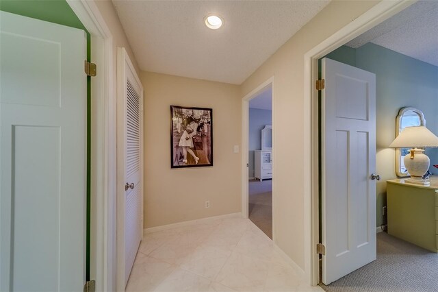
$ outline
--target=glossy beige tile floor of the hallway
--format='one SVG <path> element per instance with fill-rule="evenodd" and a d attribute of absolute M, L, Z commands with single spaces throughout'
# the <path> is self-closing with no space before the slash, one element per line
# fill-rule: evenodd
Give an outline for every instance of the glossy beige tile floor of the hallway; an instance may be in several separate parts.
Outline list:
<path fill-rule="evenodd" d="M 126 291 L 323 291 L 250 220 L 203 219 L 146 234 Z"/>

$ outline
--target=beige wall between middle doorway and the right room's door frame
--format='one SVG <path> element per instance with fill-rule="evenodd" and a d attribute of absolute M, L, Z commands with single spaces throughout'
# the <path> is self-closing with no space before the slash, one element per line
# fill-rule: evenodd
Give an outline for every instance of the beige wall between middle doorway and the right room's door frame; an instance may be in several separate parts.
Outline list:
<path fill-rule="evenodd" d="M 274 240 L 302 269 L 304 55 L 376 3 L 332 1 L 242 84 L 244 96 L 274 76 Z"/>

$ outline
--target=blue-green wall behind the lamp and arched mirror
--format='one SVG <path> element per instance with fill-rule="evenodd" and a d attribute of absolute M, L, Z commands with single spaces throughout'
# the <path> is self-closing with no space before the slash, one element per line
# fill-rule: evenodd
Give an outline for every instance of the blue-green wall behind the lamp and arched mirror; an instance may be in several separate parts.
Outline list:
<path fill-rule="evenodd" d="M 438 134 L 438 67 L 368 43 L 359 49 L 339 47 L 327 58 L 376 74 L 376 224 L 386 223 L 386 180 L 396 178 L 394 149 L 398 110 L 413 106 L 424 112 L 426 127 Z M 427 149 L 430 165 L 438 164 L 438 149 Z M 434 167 L 432 173 L 438 174 Z M 390 210 L 388 210 L 390 212 Z"/>

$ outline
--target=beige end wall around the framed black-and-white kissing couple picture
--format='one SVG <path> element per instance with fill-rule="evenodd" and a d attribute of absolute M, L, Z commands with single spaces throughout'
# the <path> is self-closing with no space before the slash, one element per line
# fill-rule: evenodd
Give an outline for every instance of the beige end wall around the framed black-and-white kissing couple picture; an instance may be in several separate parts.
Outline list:
<path fill-rule="evenodd" d="M 144 228 L 241 210 L 240 87 L 141 72 L 144 87 Z M 170 105 L 213 109 L 214 166 L 170 168 Z M 205 201 L 210 208 L 205 208 Z"/>

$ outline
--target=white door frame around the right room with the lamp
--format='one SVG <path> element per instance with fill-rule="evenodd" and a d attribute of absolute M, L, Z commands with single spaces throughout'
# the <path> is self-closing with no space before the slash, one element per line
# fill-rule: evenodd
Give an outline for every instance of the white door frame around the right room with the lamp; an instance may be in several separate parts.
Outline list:
<path fill-rule="evenodd" d="M 318 60 L 331 51 L 368 31 L 372 27 L 389 19 L 415 1 L 381 1 L 373 8 L 348 23 L 326 40 L 307 51 L 304 56 L 304 231 L 305 231 L 305 275 L 309 284 L 320 282 L 319 255 L 316 245 L 319 243 L 318 215 L 318 90 L 314 86 L 318 80 Z M 321 129 L 323 131 L 323 129 Z"/>

